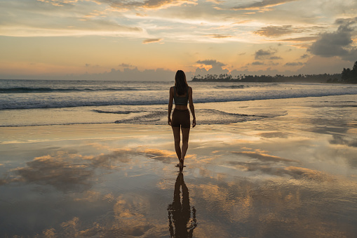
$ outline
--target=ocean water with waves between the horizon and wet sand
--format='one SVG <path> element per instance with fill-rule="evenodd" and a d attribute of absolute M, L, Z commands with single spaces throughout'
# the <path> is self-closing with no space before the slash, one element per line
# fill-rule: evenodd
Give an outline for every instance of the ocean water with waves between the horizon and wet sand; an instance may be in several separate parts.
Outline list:
<path fill-rule="evenodd" d="M 3 79 L 0 80 L 0 126 L 166 124 L 168 90 L 173 84 L 173 81 Z M 248 102 L 257 100 L 357 94 L 357 85 L 352 84 L 191 81 L 188 84 L 193 88 L 198 124 L 229 124 L 283 113 L 247 111 Z M 343 103 L 355 105 L 356 100 Z M 231 106 L 222 107 L 220 103 L 231 103 Z"/>

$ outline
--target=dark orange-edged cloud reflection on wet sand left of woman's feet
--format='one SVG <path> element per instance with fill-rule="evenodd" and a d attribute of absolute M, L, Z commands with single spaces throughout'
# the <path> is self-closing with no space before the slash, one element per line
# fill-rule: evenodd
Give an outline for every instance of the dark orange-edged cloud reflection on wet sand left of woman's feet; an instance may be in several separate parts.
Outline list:
<path fill-rule="evenodd" d="M 0 180 L 0 185 L 11 182 L 36 183 L 39 185 L 52 185 L 56 189 L 69 191 L 88 190 L 97 181 L 96 168 L 117 170 L 130 164 L 133 156 L 155 159 L 163 163 L 171 163 L 176 158 L 175 152 L 155 149 L 119 149 L 108 154 L 96 156 L 82 156 L 58 152 L 55 155 L 36 157 L 26 163 L 25 167 L 15 168 L 17 176 Z"/>

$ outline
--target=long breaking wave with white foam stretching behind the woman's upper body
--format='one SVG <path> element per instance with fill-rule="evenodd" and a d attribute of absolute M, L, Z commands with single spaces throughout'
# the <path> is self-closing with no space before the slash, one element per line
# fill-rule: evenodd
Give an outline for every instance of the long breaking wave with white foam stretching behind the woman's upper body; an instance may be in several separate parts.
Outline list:
<path fill-rule="evenodd" d="M 61 96 L 55 98 L 48 97 L 32 97 L 29 98 L 0 98 L 0 110 L 19 110 L 19 109 L 36 109 L 36 108 L 59 108 L 59 107 L 88 107 L 88 106 L 109 106 L 109 105 L 165 105 L 168 103 L 168 98 L 161 92 L 156 95 L 149 95 L 142 93 L 134 93 L 132 95 L 123 95 L 121 98 L 116 98 L 116 95 L 108 95 L 103 93 L 101 95 L 85 97 Z M 307 97 L 323 97 L 329 95 L 356 95 L 357 91 L 270 91 L 238 94 L 215 94 L 209 95 L 207 93 L 196 93 L 194 103 L 223 103 L 234 101 L 250 101 L 250 100 L 271 100 L 271 99 L 285 99 L 285 98 L 307 98 Z M 106 112 L 103 112 L 106 113 Z M 113 113 L 113 112 L 107 112 Z"/>

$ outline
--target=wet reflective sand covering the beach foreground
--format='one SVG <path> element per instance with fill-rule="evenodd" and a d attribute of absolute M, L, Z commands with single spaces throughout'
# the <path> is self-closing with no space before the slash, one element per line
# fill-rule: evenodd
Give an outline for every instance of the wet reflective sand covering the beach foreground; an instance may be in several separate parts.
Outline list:
<path fill-rule="evenodd" d="M 357 107 L 326 98 L 198 120 L 182 173 L 169 126 L 3 127 L 0 236 L 356 237 Z"/>

